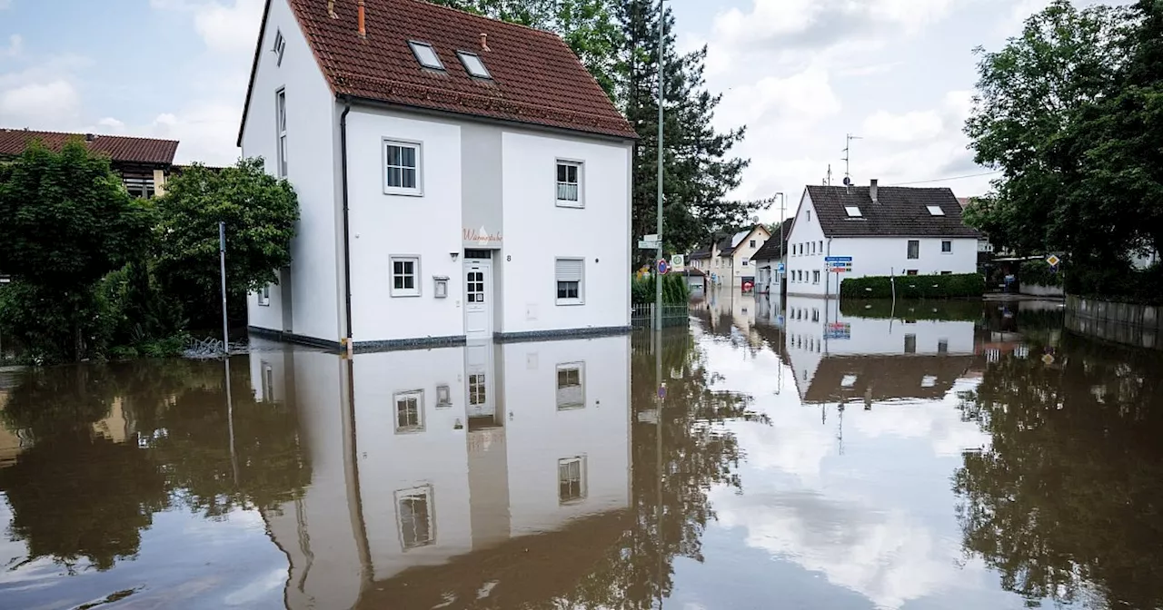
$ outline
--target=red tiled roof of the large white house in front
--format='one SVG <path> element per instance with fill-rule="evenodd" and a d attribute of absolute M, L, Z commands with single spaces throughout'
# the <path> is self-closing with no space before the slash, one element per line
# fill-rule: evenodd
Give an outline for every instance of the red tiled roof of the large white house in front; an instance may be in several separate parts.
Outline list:
<path fill-rule="evenodd" d="M 556 34 L 422 0 L 365 0 L 368 35 L 362 38 L 355 1 L 335 2 L 334 19 L 328 15 L 328 0 L 290 0 L 290 3 L 337 95 L 637 137 L 598 81 Z M 481 46 L 481 34 L 487 35 L 488 50 Z M 444 70 L 422 67 L 409 41 L 430 44 Z M 265 41 L 258 42 L 256 66 L 258 53 L 266 46 Z M 479 56 L 492 78 L 470 76 L 457 51 Z M 248 92 L 248 101 L 249 96 Z"/>

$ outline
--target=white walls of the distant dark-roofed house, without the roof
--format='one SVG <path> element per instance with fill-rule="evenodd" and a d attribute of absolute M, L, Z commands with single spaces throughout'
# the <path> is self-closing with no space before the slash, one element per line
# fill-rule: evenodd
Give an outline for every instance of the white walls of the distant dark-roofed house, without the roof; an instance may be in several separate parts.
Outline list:
<path fill-rule="evenodd" d="M 916 242 L 916 258 L 909 258 Z M 827 257 L 851 257 L 847 278 L 869 275 L 940 275 L 977 272 L 977 239 L 972 237 L 835 237 L 825 236 L 807 191 L 787 238 L 787 294 L 827 296 L 839 293 L 837 274 Z"/>

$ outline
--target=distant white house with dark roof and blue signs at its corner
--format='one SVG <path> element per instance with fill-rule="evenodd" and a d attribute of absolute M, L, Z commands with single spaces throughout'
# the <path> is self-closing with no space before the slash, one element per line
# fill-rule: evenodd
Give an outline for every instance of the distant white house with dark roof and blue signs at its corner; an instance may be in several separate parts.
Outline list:
<path fill-rule="evenodd" d="M 837 275 L 976 273 L 978 237 L 948 188 L 808 186 L 787 239 L 787 294 L 836 295 Z M 851 272 L 828 272 L 828 257 L 851 257 Z"/>

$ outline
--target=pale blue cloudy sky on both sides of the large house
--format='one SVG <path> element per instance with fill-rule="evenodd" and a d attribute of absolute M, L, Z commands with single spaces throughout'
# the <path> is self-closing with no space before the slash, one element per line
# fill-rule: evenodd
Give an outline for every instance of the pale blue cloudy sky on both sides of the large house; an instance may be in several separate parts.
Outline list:
<path fill-rule="evenodd" d="M 345 0 L 340 0 L 345 1 Z M 347 0 L 354 1 L 354 0 Z M 1096 0 L 1075 0 L 1078 6 Z M 1119 1 L 1119 0 L 1113 0 Z M 1049 0 L 666 0 L 683 50 L 707 45 L 715 125 L 747 125 L 739 199 L 846 173 L 857 185 L 983 194 L 962 128 L 976 46 L 1000 49 Z M 0 127 L 179 139 L 237 158 L 263 0 L 0 0 Z M 779 204 L 761 214 L 779 220 Z"/>

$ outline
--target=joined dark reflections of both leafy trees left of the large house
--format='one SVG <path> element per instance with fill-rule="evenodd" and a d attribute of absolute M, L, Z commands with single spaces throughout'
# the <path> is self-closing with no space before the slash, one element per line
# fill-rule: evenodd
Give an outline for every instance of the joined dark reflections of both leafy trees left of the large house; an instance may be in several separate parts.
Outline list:
<path fill-rule="evenodd" d="M 137 552 L 141 530 L 173 498 L 222 516 L 300 495 L 311 464 L 293 407 L 257 403 L 236 361 L 231 461 L 222 375 L 219 361 L 181 360 L 29 372 L 0 411 L 33 442 L 0 469 L 9 533 L 28 543 L 29 560 L 87 558 L 107 569 Z M 94 431 L 115 400 L 124 443 Z"/>

